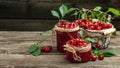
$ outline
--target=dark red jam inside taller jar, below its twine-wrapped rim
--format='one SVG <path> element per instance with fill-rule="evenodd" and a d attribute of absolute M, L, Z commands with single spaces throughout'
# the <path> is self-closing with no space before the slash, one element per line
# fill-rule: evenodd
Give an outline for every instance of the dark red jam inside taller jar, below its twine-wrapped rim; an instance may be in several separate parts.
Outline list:
<path fill-rule="evenodd" d="M 74 31 L 74 32 L 56 31 L 56 35 L 57 35 L 57 51 L 65 53 L 63 45 L 65 45 L 67 41 L 72 39 L 71 36 L 73 38 L 77 38 L 78 37 L 78 30 Z"/>

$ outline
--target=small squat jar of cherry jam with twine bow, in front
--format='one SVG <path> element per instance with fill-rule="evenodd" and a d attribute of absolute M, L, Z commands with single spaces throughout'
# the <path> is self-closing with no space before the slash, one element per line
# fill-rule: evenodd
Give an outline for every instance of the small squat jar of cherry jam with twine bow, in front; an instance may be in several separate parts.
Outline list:
<path fill-rule="evenodd" d="M 87 62 L 91 59 L 91 44 L 82 39 L 72 39 L 64 47 L 66 59 L 70 62 Z"/>

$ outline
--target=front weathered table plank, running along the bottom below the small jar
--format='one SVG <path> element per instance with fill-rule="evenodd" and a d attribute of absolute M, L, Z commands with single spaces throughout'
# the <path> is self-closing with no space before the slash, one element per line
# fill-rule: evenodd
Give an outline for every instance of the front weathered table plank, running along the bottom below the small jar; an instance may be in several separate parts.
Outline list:
<path fill-rule="evenodd" d="M 44 59 L 44 60 L 43 60 Z M 112 62 L 111 62 L 112 60 Z M 33 57 L 30 55 L 18 54 L 0 54 L 0 65 L 11 65 L 13 67 L 56 67 L 56 68 L 118 68 L 120 65 L 120 57 L 109 57 L 103 61 L 97 60 L 96 62 L 89 61 L 87 63 L 70 63 L 65 59 L 65 55 L 40 55 Z"/>

